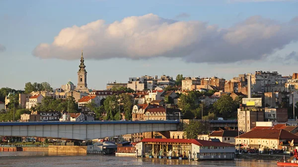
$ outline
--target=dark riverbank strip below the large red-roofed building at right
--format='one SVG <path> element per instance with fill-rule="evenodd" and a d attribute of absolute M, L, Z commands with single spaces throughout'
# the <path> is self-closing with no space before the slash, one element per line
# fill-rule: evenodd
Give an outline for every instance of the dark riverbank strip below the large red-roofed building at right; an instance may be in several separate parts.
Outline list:
<path fill-rule="evenodd" d="M 266 160 L 266 161 L 279 161 L 282 158 L 289 158 L 290 155 L 286 154 L 236 154 L 236 159 L 243 159 L 243 160 Z"/>

